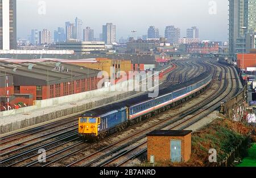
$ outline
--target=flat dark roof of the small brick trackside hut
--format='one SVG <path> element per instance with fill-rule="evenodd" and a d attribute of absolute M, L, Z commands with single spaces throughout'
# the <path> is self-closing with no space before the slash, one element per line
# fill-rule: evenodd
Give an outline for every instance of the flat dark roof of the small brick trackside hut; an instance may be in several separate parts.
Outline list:
<path fill-rule="evenodd" d="M 147 136 L 185 136 L 192 133 L 192 130 L 154 130 Z"/>

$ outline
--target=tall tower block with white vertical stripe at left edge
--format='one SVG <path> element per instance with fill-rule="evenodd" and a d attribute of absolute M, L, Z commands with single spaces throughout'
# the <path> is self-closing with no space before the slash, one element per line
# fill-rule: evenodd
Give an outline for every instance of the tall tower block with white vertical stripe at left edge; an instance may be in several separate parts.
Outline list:
<path fill-rule="evenodd" d="M 0 0 L 0 49 L 16 47 L 16 0 Z"/>

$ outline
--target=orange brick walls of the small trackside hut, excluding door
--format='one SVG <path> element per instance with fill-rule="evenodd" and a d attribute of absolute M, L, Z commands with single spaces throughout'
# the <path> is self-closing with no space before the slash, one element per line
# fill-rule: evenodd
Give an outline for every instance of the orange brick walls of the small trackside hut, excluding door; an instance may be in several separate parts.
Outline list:
<path fill-rule="evenodd" d="M 148 136 L 147 137 L 147 159 L 150 155 L 155 156 L 155 162 L 171 161 L 171 140 L 181 140 L 181 156 L 184 162 L 190 159 L 191 155 L 191 134 L 187 136 Z"/>

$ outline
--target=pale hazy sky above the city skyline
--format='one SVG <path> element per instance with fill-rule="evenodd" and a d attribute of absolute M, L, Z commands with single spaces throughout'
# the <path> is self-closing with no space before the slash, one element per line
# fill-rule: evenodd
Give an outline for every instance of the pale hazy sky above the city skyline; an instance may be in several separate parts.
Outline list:
<path fill-rule="evenodd" d="M 67 21 L 75 22 L 76 16 L 83 28 L 94 29 L 94 38 L 102 24 L 112 22 L 117 39 L 131 36 L 133 29 L 138 36 L 147 34 L 149 26 L 158 27 L 163 36 L 164 28 L 174 25 L 181 37 L 197 26 L 201 40 L 228 40 L 228 0 L 17 0 L 18 37 L 27 37 L 32 28 L 53 32 Z"/>

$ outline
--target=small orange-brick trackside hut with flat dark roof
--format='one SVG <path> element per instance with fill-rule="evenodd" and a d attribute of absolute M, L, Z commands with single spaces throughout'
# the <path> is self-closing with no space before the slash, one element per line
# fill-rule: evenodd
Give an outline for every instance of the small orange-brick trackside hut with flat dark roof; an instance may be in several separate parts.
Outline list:
<path fill-rule="evenodd" d="M 155 130 L 147 134 L 147 159 L 187 162 L 191 157 L 191 130 Z"/>

